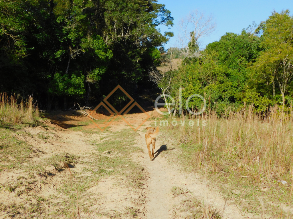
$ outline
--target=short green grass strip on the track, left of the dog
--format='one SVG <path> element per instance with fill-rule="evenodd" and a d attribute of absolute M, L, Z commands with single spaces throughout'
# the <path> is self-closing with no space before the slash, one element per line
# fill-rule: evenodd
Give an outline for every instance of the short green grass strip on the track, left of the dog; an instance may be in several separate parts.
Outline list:
<path fill-rule="evenodd" d="M 102 135 L 101 138 L 109 139 L 100 143 L 96 140 L 89 141 L 90 144 L 96 146 L 99 153 L 94 152 L 79 158 L 78 163 L 86 166 L 82 171 L 76 172 L 74 168 L 70 168 L 73 175 L 64 181 L 61 187 L 57 188 L 59 193 L 67 197 L 66 201 L 64 200 L 64 202 L 59 203 L 59 206 L 62 205 L 64 208 L 50 213 L 50 216 L 66 215 L 68 218 L 76 217 L 77 192 L 81 211 L 85 214 L 92 212 L 93 210 L 89 210 L 90 206 L 98 200 L 97 198 L 88 196 L 89 194 L 86 191 L 94 185 L 97 185 L 101 178 L 113 177 L 113 179 L 117 179 L 113 181 L 116 185 L 123 183 L 124 187 L 129 187 L 134 190 L 142 188 L 145 180 L 144 168 L 136 162 L 133 162 L 130 158 L 131 153 L 142 151 L 141 148 L 133 146 L 136 136 L 139 134 L 130 131 L 130 129 L 111 134 L 100 134 Z M 108 150 L 108 153 L 101 154 L 105 150 Z M 59 155 L 50 157 L 48 161 L 52 165 L 58 164 L 60 161 L 64 162 L 63 156 Z M 71 160 L 67 160 L 67 162 L 69 161 L 76 162 L 76 157 L 71 157 Z M 65 169 L 63 171 L 68 170 Z M 57 199 L 57 197 L 52 197 L 52 199 Z M 72 208 L 74 208 L 73 211 Z M 137 209 L 131 207 L 125 208 L 122 214 L 135 217 L 137 215 Z M 114 216 L 112 213 L 105 214 L 104 216 L 119 218 L 121 213 L 114 214 Z"/>

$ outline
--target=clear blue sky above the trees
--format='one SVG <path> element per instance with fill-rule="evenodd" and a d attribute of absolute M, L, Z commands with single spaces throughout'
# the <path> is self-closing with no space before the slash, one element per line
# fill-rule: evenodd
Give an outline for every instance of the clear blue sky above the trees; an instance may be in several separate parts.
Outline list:
<path fill-rule="evenodd" d="M 158 0 L 159 4 L 165 4 L 166 8 L 171 11 L 174 18 L 174 26 L 168 29 L 166 26 L 160 25 L 161 32 L 172 31 L 176 35 L 176 25 L 178 20 L 189 11 L 198 9 L 205 12 L 205 14 L 212 14 L 217 22 L 216 31 L 213 35 L 202 39 L 202 47 L 213 42 L 218 41 L 226 32 L 241 33 L 243 28 L 252 25 L 253 21 L 258 25 L 261 21 L 266 20 L 273 10 L 281 12 L 289 9 L 292 15 L 293 1 L 190 1 L 190 0 Z M 176 45 L 175 36 L 172 37 L 168 44 L 164 47 L 168 48 L 170 45 Z"/>

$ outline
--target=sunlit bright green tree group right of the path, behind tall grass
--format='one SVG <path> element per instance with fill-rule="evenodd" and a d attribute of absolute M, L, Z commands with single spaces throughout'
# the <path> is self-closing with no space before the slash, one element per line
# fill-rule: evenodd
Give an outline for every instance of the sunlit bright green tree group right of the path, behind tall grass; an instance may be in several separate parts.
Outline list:
<path fill-rule="evenodd" d="M 161 88 L 168 87 L 166 94 L 175 98 L 176 107 L 182 87 L 183 99 L 200 94 L 207 106 L 221 114 L 251 104 L 256 112 L 269 112 L 275 105 L 280 111 L 283 106 L 284 111 L 291 109 L 293 17 L 288 10 L 273 12 L 266 21 L 243 29 L 241 34 L 226 33 L 203 51 L 198 50 L 196 41 L 188 46 L 180 69 L 166 72 L 158 83 Z M 180 51 L 183 48 L 169 48 L 166 59 L 170 60 L 171 53 L 173 58 L 179 57 Z M 189 107 L 200 109 L 202 104 L 200 98 L 193 98 Z"/>

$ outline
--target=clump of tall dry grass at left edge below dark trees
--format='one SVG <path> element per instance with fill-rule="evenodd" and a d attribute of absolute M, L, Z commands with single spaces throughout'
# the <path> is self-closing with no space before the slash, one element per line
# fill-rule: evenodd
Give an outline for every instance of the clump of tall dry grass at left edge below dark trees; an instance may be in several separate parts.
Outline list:
<path fill-rule="evenodd" d="M 33 103 L 33 97 L 28 96 L 24 102 L 19 96 L 0 93 L 0 121 L 10 124 L 31 123 L 39 117 L 38 106 Z"/>

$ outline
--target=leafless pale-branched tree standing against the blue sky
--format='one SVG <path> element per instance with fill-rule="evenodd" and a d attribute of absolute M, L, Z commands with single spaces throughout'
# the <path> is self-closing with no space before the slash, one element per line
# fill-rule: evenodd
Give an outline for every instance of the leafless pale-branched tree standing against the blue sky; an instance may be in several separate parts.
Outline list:
<path fill-rule="evenodd" d="M 188 43 L 194 40 L 197 44 L 200 44 L 199 39 L 210 36 L 215 29 L 216 22 L 213 16 L 206 16 L 205 13 L 198 10 L 191 11 L 185 17 L 180 18 L 177 41 L 183 55 L 190 58 L 199 56 L 198 52 L 190 50 Z"/>

